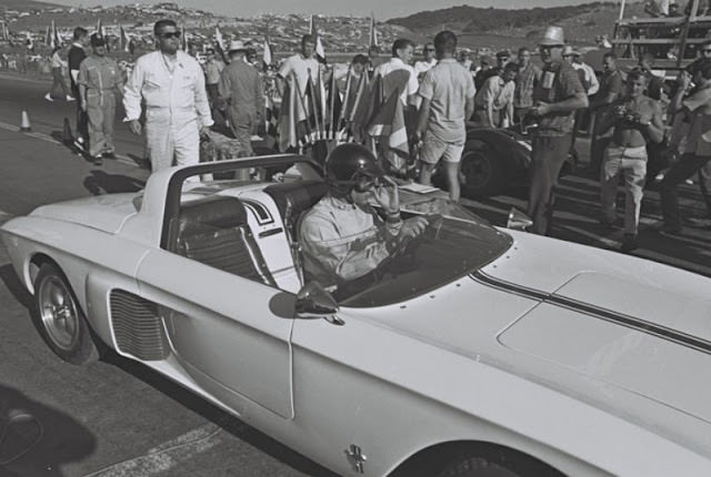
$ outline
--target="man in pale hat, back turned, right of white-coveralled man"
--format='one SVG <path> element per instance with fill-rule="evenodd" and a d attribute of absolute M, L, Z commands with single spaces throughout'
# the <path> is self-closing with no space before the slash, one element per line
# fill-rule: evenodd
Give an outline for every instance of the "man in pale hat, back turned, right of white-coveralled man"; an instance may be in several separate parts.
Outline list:
<path fill-rule="evenodd" d="M 222 70 L 218 87 L 220 99 L 228 102 L 227 116 L 232 134 L 239 141 L 240 156 L 252 155 L 251 135 L 263 118 L 264 100 L 262 80 L 246 60 L 247 47 L 233 40 L 228 48 L 230 64 Z"/>

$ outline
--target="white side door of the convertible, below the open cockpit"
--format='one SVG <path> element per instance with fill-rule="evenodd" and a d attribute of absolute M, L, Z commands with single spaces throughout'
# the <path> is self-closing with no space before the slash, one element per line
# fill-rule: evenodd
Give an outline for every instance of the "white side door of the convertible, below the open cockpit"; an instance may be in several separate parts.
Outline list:
<path fill-rule="evenodd" d="M 164 250 L 147 254 L 138 281 L 178 363 L 206 392 L 238 412 L 247 398 L 293 417 L 294 295 Z"/>

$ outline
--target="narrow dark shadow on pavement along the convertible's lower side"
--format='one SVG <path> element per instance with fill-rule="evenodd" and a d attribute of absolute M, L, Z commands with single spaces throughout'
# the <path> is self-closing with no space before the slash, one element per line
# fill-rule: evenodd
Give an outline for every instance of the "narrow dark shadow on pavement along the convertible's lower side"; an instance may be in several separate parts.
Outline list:
<path fill-rule="evenodd" d="M 278 440 L 272 439 L 268 435 L 254 429 L 239 418 L 213 406 L 191 390 L 186 389 L 140 363 L 126 359 L 114 352 L 107 353 L 102 357 L 102 361 L 121 368 L 132 376 L 136 376 L 149 386 L 160 390 L 166 396 L 177 400 L 182 406 L 217 424 L 238 439 L 252 445 L 260 451 L 290 466 L 294 470 L 313 477 L 337 477 L 336 474 L 331 473 L 327 468 L 290 449 Z"/>

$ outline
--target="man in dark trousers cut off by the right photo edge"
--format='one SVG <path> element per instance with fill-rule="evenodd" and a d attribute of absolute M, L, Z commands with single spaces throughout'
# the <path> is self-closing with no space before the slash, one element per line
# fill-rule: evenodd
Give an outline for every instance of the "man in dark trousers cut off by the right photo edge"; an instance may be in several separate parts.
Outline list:
<path fill-rule="evenodd" d="M 690 81 L 691 77 L 682 73 L 679 88 L 684 90 Z M 664 222 L 660 231 L 667 233 L 680 233 L 682 230 L 677 186 L 711 161 L 711 60 L 704 59 L 697 65 L 693 81 L 697 88 L 683 100 L 681 106 L 681 112 L 687 114 L 690 123 L 684 153 L 667 172 L 661 183 Z M 711 191 L 703 184 L 701 192 L 709 204 Z"/>

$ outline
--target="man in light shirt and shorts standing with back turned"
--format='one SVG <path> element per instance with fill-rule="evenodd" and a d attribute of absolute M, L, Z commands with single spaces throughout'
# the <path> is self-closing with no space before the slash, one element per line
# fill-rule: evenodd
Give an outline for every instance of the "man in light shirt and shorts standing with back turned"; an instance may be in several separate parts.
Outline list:
<path fill-rule="evenodd" d="M 449 30 L 434 37 L 438 63 L 422 79 L 415 139 L 421 142 L 420 183 L 430 185 L 441 160 L 452 201 L 459 201 L 459 162 L 464 150 L 464 122 L 474 112 L 474 81 L 454 58 L 457 35 Z"/>

